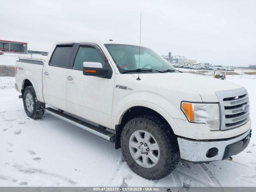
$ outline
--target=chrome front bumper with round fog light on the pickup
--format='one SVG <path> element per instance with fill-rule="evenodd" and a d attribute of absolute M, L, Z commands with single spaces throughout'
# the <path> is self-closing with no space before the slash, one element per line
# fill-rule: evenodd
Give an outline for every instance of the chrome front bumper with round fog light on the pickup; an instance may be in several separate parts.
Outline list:
<path fill-rule="evenodd" d="M 228 139 L 191 140 L 178 137 L 180 158 L 191 162 L 210 162 L 228 158 L 242 152 L 250 142 L 251 129 Z"/>

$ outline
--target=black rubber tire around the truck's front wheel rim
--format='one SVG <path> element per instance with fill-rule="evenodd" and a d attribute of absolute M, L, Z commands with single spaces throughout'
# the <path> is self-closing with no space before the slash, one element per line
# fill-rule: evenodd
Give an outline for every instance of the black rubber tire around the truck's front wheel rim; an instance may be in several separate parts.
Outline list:
<path fill-rule="evenodd" d="M 160 156 L 157 164 L 152 168 L 140 166 L 130 154 L 129 139 L 136 130 L 149 132 L 158 143 Z M 128 166 L 136 174 L 150 180 L 158 180 L 170 174 L 180 159 L 177 137 L 166 121 L 155 116 L 138 116 L 128 121 L 122 130 L 121 148 Z"/>

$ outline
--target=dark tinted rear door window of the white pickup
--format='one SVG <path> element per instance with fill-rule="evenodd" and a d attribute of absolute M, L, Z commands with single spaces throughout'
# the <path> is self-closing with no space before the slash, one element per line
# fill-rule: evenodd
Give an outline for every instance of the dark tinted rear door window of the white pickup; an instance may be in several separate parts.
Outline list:
<path fill-rule="evenodd" d="M 58 46 L 55 48 L 49 65 L 68 68 L 72 53 L 74 51 L 73 46 Z"/>

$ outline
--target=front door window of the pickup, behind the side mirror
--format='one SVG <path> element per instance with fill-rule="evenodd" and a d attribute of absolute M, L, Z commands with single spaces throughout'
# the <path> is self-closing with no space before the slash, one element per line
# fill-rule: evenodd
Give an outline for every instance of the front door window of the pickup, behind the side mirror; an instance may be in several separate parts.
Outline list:
<path fill-rule="evenodd" d="M 77 70 L 83 70 L 83 62 L 99 62 L 102 64 L 104 67 L 104 60 L 100 56 L 100 53 L 98 50 L 96 50 L 93 47 L 80 47 L 77 54 L 76 54 L 76 59 L 74 62 L 74 69 Z"/>

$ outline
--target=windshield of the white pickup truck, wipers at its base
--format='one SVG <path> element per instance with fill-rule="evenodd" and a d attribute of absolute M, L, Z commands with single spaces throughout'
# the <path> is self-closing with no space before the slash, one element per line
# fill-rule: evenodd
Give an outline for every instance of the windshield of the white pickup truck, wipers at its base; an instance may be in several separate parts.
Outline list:
<path fill-rule="evenodd" d="M 171 64 L 164 60 L 164 58 L 149 48 L 139 48 L 139 46 L 126 44 L 105 44 L 105 46 L 121 73 L 139 68 L 139 53 L 140 68 L 152 69 L 151 71 L 146 72 L 157 72 L 153 70 L 175 70 Z"/>

